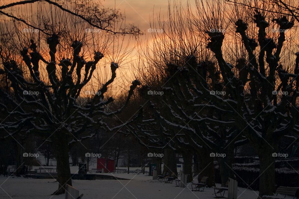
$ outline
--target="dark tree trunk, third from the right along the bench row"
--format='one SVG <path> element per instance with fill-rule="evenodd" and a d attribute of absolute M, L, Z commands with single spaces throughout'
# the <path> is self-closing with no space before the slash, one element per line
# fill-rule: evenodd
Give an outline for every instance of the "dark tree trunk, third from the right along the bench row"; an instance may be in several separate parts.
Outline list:
<path fill-rule="evenodd" d="M 199 168 L 198 168 L 198 178 L 209 177 L 207 186 L 212 187 L 215 186 L 215 178 L 214 178 L 214 158 L 210 156 L 211 150 L 203 147 L 199 153 L 197 153 Z"/>

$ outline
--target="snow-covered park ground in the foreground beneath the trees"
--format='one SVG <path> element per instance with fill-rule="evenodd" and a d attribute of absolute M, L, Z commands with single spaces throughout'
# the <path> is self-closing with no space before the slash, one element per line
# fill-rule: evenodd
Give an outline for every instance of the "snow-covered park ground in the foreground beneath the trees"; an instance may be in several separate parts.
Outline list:
<path fill-rule="evenodd" d="M 134 174 L 117 174 L 132 180 L 73 180 L 73 186 L 83 193 L 83 199 L 189 199 L 214 198 L 213 188 L 205 188 L 204 192 L 192 192 L 191 184 L 188 188 L 175 187 L 175 183 L 168 184 L 157 180 L 150 180 L 149 176 Z M 134 177 L 135 176 L 135 177 Z M 51 196 L 57 188 L 55 180 L 30 179 L 23 177 L 0 177 L 1 199 L 63 199 L 64 196 Z M 258 192 L 239 188 L 240 199 L 257 198 Z"/>

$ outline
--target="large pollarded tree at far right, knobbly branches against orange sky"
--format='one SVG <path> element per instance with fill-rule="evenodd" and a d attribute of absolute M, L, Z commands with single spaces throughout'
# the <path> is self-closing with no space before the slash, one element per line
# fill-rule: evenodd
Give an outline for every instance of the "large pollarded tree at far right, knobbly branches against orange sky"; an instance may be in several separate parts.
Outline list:
<path fill-rule="evenodd" d="M 235 32 L 223 33 L 220 24 L 212 23 L 206 30 L 210 41 L 207 48 L 215 54 L 230 96 L 230 101 L 222 104 L 229 104 L 234 110 L 240 134 L 249 139 L 259 155 L 259 197 L 273 195 L 275 191 L 273 153 L 279 139 L 289 132 L 298 132 L 299 85 L 299 53 L 293 59 L 290 49 L 296 50 L 295 45 L 286 42 L 287 37 L 296 37 L 292 34 L 294 20 L 280 11 L 278 14 L 264 12 L 262 6 L 256 10 L 235 7 L 237 17 L 232 18 Z M 228 9 L 227 13 L 230 12 Z M 210 17 L 203 16 L 206 20 Z M 243 67 L 237 65 L 237 56 L 228 56 L 235 49 L 224 44 L 226 35 L 239 36 L 236 45 L 246 52 Z M 228 60 L 236 63 L 235 67 Z"/>

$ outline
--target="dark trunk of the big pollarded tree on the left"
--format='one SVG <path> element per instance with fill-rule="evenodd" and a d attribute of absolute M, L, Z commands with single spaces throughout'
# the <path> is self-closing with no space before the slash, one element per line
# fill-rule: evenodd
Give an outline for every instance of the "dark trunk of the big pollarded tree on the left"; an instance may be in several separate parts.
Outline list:
<path fill-rule="evenodd" d="M 66 184 L 72 185 L 71 171 L 69 168 L 68 136 L 64 132 L 57 132 L 54 136 L 55 158 L 57 161 L 58 189 L 54 195 L 63 194 Z"/>

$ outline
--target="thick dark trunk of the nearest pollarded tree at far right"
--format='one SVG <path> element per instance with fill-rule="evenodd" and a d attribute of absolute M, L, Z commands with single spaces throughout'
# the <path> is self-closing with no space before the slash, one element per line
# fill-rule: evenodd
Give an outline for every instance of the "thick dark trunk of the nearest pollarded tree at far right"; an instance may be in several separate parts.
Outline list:
<path fill-rule="evenodd" d="M 259 148 L 259 196 L 273 196 L 275 192 L 275 158 L 273 149 L 264 144 Z"/>

